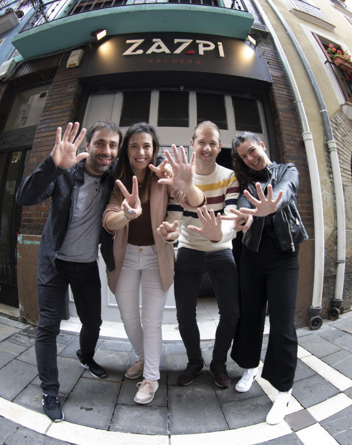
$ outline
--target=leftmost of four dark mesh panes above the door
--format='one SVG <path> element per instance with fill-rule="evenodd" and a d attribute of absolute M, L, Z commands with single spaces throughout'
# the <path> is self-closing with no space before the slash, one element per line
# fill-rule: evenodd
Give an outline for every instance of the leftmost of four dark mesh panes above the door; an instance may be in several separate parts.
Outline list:
<path fill-rule="evenodd" d="M 149 122 L 150 91 L 125 91 L 123 93 L 120 127 L 137 122 Z"/>

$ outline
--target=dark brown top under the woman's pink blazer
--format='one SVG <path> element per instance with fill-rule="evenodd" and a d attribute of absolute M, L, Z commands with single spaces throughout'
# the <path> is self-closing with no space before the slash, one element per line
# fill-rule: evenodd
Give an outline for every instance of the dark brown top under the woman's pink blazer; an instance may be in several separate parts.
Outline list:
<path fill-rule="evenodd" d="M 155 244 L 152 219 L 150 218 L 150 201 L 142 204 L 142 214 L 129 222 L 129 244 L 133 246 L 153 246 Z"/>

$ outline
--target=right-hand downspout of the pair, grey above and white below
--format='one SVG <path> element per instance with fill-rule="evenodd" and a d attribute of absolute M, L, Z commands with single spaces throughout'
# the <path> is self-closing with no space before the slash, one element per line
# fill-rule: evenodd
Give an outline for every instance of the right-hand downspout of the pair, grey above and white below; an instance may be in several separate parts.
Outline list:
<path fill-rule="evenodd" d="M 323 120 L 326 143 L 328 144 L 330 160 L 333 171 L 333 180 L 335 187 L 335 198 L 336 198 L 336 221 L 337 221 L 337 264 L 336 264 L 336 280 L 335 280 L 335 298 L 331 298 L 330 302 L 330 310 L 329 310 L 329 318 L 336 320 L 340 315 L 340 307 L 342 303 L 343 297 L 343 283 L 345 276 L 345 262 L 346 262 L 346 226 L 345 226 L 345 207 L 344 207 L 344 197 L 343 197 L 343 187 L 342 187 L 342 177 L 340 170 L 340 163 L 337 153 L 336 141 L 334 139 L 334 133 L 331 126 L 331 121 L 329 117 L 328 110 L 326 109 L 326 105 L 321 94 L 319 85 L 316 81 L 316 78 L 310 68 L 309 62 L 304 54 L 304 51 L 299 46 L 299 43 L 294 36 L 293 32 L 289 28 L 286 23 L 286 20 L 273 4 L 272 0 L 267 0 L 268 4 L 271 6 L 275 14 L 278 16 L 282 25 L 288 33 L 288 36 L 292 40 L 294 47 L 297 50 L 297 53 L 307 71 L 309 76 L 309 80 L 312 83 L 313 90 L 315 92 L 320 113 Z M 323 239 L 323 238 L 322 238 Z"/>

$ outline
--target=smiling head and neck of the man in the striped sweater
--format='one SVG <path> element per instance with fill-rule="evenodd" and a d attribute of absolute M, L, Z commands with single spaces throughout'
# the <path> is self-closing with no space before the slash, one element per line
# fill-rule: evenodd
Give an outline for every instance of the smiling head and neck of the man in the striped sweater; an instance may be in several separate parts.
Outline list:
<path fill-rule="evenodd" d="M 199 127 L 191 148 L 195 151 L 195 172 L 210 174 L 215 170 L 215 161 L 221 151 L 220 135 L 215 128 Z"/>

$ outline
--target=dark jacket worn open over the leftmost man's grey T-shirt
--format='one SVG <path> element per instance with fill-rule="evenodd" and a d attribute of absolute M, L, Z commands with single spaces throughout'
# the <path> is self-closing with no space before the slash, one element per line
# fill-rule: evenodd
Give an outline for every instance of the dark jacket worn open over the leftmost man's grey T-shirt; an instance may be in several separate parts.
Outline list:
<path fill-rule="evenodd" d="M 114 168 L 115 163 L 100 177 L 105 189 L 106 203 L 115 185 Z M 48 155 L 17 190 L 16 201 L 22 207 L 35 205 L 52 197 L 38 252 L 38 278 L 43 283 L 51 280 L 57 273 L 55 259 L 73 215 L 73 204 L 83 183 L 84 161 L 66 170 L 57 167 L 51 155 Z M 104 261 L 108 269 L 113 270 L 112 235 L 103 225 L 99 242 Z"/>

